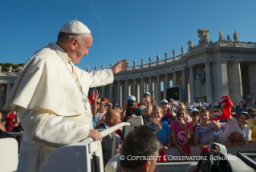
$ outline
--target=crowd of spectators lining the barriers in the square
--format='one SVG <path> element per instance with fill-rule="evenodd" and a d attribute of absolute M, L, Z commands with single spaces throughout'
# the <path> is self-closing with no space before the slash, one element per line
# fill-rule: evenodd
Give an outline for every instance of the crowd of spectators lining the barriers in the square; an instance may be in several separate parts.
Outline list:
<path fill-rule="evenodd" d="M 248 97 L 246 105 L 247 102 L 253 101 Z M 142 102 L 136 102 L 135 96 L 131 95 L 124 102 L 124 106 L 112 106 L 109 99 L 100 98 L 100 93 L 96 90 L 92 94 L 91 101 L 92 122 L 95 129 L 108 129 L 120 122 L 127 122 L 129 118 L 142 116 L 144 126 L 156 129 L 155 135 L 161 141 L 160 154 L 165 154 L 170 147 L 176 147 L 181 156 L 189 156 L 189 146 L 197 146 L 205 151 L 211 142 L 220 142 L 226 147 L 244 146 L 248 142 L 256 142 L 254 108 L 242 111 L 240 114 L 232 113 L 226 120 L 216 120 L 222 115 L 222 111 L 215 103 L 213 103 L 214 109 L 211 104 L 208 106 L 206 103 L 207 108 L 204 106 L 201 108 L 200 103 L 198 103 L 199 107 L 197 103 L 194 104 L 195 106 L 186 106 L 179 101 L 169 103 L 163 99 L 160 106 L 157 106 L 156 102 L 151 100 L 150 93 L 145 92 Z M 1 110 L 0 114 L 2 138 L 13 137 L 8 133 L 23 131 L 18 112 Z M 115 132 L 116 153 L 120 152 L 124 133 L 125 128 Z M 109 134 L 102 141 L 104 166 L 112 157 L 112 137 L 113 135 Z M 18 136 L 16 138 L 18 142 L 22 139 Z"/>

